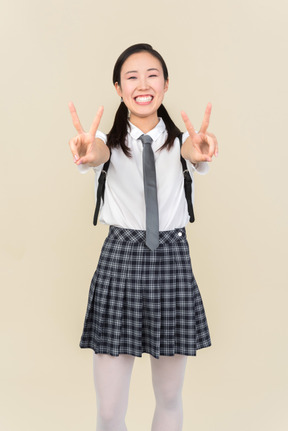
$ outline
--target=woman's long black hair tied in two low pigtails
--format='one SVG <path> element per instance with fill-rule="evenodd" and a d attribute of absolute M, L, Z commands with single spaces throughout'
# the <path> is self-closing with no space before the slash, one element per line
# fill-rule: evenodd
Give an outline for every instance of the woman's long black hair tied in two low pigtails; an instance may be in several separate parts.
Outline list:
<path fill-rule="evenodd" d="M 124 52 L 122 52 L 122 54 L 116 61 L 114 70 L 113 70 L 113 84 L 115 85 L 115 83 L 118 82 L 118 84 L 121 86 L 120 75 L 121 75 L 122 66 L 124 62 L 127 60 L 127 58 L 130 57 L 130 55 L 136 54 L 138 52 L 148 52 L 149 54 L 157 58 L 160 61 L 163 69 L 164 80 L 167 81 L 168 69 L 165 61 L 163 60 L 159 52 L 155 51 L 155 49 L 153 49 L 152 46 L 147 43 L 138 43 L 136 45 L 130 46 Z M 158 117 L 162 117 L 168 133 L 167 139 L 162 145 L 162 147 L 160 148 L 160 150 L 164 148 L 167 148 L 169 150 L 173 146 L 174 140 L 179 135 L 180 130 L 170 118 L 163 104 L 159 106 L 157 110 L 157 115 Z M 107 136 L 108 138 L 107 145 L 110 149 L 121 147 L 124 154 L 127 157 L 131 157 L 130 149 L 126 145 L 126 136 L 127 136 L 128 127 L 129 127 L 128 109 L 125 103 L 121 101 L 120 106 L 115 114 L 113 126 Z"/>

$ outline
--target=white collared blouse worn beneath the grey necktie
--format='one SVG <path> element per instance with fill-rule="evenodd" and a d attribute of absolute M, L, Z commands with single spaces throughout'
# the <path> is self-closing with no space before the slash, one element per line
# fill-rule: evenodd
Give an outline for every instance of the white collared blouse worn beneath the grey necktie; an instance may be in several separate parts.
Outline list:
<path fill-rule="evenodd" d="M 126 229 L 145 230 L 143 145 L 139 140 L 143 132 L 132 123 L 130 126 L 127 145 L 132 157 L 125 156 L 121 148 L 113 148 L 106 178 L 105 202 L 101 203 L 99 221 Z M 184 227 L 189 221 L 189 214 L 184 193 L 179 140 L 175 139 L 174 145 L 169 151 L 166 149 L 158 151 L 167 138 L 165 123 L 161 118 L 157 126 L 147 134 L 153 139 L 152 149 L 155 154 L 159 230 Z M 99 131 L 96 137 L 107 142 L 106 135 Z M 183 142 L 187 137 L 188 132 L 185 132 Z M 192 178 L 195 170 L 200 174 L 205 174 L 209 169 L 207 162 L 198 163 L 195 167 L 187 161 L 187 167 Z M 92 168 L 95 171 L 96 191 L 102 168 L 103 164 Z M 85 165 L 79 166 L 81 172 L 86 172 L 88 169 Z M 192 189 L 192 200 L 193 195 Z"/>

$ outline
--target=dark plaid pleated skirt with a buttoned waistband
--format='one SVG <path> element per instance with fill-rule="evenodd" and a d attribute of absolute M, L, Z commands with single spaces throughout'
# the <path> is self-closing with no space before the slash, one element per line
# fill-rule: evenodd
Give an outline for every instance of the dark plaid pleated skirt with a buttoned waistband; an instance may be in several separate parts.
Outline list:
<path fill-rule="evenodd" d="M 110 227 L 93 276 L 81 348 L 112 356 L 195 356 L 211 345 L 185 228 L 160 232 Z"/>

